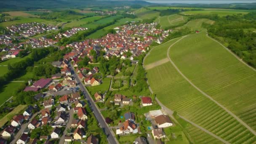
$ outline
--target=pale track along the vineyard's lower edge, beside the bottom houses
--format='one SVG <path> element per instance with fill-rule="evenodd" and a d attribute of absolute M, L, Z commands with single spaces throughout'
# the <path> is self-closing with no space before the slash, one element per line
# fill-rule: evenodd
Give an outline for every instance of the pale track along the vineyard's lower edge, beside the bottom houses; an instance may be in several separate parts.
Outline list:
<path fill-rule="evenodd" d="M 167 107 L 165 107 L 165 105 L 163 105 L 157 98 L 155 98 L 155 100 L 157 101 L 157 103 L 162 107 L 162 109 L 168 113 L 168 115 L 170 115 L 170 117 L 174 118 L 173 117 L 173 111 L 171 109 L 168 109 Z M 186 120 L 187 122 L 189 122 L 190 124 L 194 125 L 195 127 L 199 128 L 200 130 L 204 131 L 205 133 L 208 133 L 209 135 L 213 136 L 214 138 L 216 139 L 219 139 L 220 141 L 222 141 L 223 143 L 225 144 L 229 144 L 229 142 L 225 141 L 224 139 L 221 139 L 219 136 L 216 136 L 215 134 L 211 133 L 210 131 L 207 131 L 206 129 L 200 127 L 199 125 L 193 123 L 192 121 L 190 120 L 187 120 L 186 118 L 178 115 L 179 117 L 181 117 L 183 120 Z M 174 118 L 175 119 L 175 118 Z"/>

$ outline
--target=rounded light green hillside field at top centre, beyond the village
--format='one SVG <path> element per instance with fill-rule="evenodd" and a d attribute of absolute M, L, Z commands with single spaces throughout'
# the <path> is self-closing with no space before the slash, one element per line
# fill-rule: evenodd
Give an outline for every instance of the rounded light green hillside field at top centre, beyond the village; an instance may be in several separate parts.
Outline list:
<path fill-rule="evenodd" d="M 159 12 L 153 10 L 147 10 L 146 8 L 140 8 L 135 11 L 136 15 L 140 19 L 152 19 L 159 16 Z"/>

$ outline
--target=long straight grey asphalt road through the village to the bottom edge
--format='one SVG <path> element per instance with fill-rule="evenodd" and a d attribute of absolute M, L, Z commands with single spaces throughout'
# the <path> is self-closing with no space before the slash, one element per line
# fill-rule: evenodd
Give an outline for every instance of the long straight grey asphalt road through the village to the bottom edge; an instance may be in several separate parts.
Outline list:
<path fill-rule="evenodd" d="M 81 80 L 77 77 L 77 74 L 75 73 L 75 70 L 73 67 L 70 66 L 71 72 L 73 76 L 75 77 L 75 80 L 77 80 L 77 84 L 80 85 L 81 91 L 83 92 L 85 99 L 88 101 L 89 106 L 91 107 L 92 112 L 94 113 L 96 119 L 98 120 L 99 124 L 101 125 L 101 128 L 103 129 L 104 133 L 107 136 L 107 140 L 109 141 L 109 144 L 118 144 L 117 139 L 115 138 L 115 134 L 111 132 L 109 129 L 107 123 L 105 122 L 104 118 L 101 116 L 101 113 L 99 112 L 99 109 L 96 107 L 96 105 L 93 102 L 93 99 L 89 95 L 87 89 L 81 82 Z"/>

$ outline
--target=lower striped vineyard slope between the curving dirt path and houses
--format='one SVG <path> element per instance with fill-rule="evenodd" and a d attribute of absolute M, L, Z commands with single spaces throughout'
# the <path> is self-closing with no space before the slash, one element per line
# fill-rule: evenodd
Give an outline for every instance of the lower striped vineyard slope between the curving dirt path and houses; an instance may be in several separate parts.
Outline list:
<path fill-rule="evenodd" d="M 192 87 L 170 62 L 147 70 L 147 77 L 157 98 L 179 115 L 230 143 L 255 142 L 256 136 Z"/>

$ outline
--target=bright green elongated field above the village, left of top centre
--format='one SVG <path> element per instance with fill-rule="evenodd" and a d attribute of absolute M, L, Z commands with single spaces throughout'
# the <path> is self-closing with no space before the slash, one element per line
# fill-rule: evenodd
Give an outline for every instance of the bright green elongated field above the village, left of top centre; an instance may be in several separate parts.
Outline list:
<path fill-rule="evenodd" d="M 88 17 L 88 18 L 85 18 L 85 19 L 80 19 L 78 21 L 72 21 L 70 23 L 65 24 L 64 27 L 80 27 L 84 24 L 88 24 L 90 22 L 93 22 L 95 20 L 99 20 L 101 18 L 102 18 L 102 16 L 92 16 L 92 17 Z"/>

